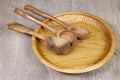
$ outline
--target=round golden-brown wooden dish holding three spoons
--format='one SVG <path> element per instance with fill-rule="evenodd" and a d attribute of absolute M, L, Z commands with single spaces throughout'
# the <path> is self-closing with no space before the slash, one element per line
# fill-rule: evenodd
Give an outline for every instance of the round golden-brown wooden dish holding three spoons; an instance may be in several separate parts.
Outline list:
<path fill-rule="evenodd" d="M 42 40 L 33 36 L 32 47 L 35 55 L 45 65 L 64 73 L 84 73 L 97 69 L 111 58 L 116 47 L 116 39 L 103 20 L 82 12 L 66 12 L 55 17 L 71 25 L 84 27 L 90 34 L 85 40 L 77 40 L 65 55 L 57 55 L 49 51 Z M 49 19 L 44 23 L 57 29 L 62 28 Z M 45 36 L 55 36 L 40 26 L 35 31 Z"/>

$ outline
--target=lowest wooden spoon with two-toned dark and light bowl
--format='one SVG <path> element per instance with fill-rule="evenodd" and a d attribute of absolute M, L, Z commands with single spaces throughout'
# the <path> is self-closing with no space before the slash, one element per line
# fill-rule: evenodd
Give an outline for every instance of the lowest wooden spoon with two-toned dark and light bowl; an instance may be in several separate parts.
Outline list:
<path fill-rule="evenodd" d="M 57 54 L 64 54 L 66 53 L 69 48 L 71 47 L 71 44 L 68 40 L 59 38 L 59 37 L 45 37 L 39 33 L 33 32 L 32 30 L 28 29 L 24 25 L 21 25 L 16 22 L 12 22 L 8 24 L 8 28 L 21 32 L 21 33 L 26 33 L 29 35 L 33 35 L 43 41 L 45 41 L 47 48 L 49 48 L 52 51 L 57 52 Z"/>

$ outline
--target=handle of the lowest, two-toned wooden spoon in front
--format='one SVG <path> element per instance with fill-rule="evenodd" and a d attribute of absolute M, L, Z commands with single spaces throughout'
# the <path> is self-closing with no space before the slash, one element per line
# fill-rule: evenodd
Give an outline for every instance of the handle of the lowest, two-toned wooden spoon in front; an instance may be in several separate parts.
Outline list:
<path fill-rule="evenodd" d="M 39 33 L 36 33 L 32 30 L 30 30 L 29 28 L 25 27 L 24 25 L 22 24 L 19 24 L 17 22 L 12 22 L 12 23 L 9 23 L 8 24 L 8 29 L 11 29 L 11 30 L 15 30 L 15 31 L 18 31 L 18 32 L 21 32 L 21 33 L 26 33 L 26 34 L 29 34 L 29 35 L 33 35 L 39 39 L 42 39 L 42 40 L 46 40 L 46 37 L 39 34 Z"/>

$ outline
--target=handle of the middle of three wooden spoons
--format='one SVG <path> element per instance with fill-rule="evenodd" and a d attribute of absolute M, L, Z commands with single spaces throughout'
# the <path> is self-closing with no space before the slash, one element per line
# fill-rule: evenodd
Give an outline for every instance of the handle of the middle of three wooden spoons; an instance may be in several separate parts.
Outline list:
<path fill-rule="evenodd" d="M 43 23 L 43 22 L 37 20 L 36 18 L 32 17 L 32 16 L 29 15 L 28 13 L 24 12 L 23 10 L 18 9 L 18 8 L 15 8 L 15 9 L 14 9 L 14 12 L 15 12 L 16 14 L 18 14 L 18 15 L 24 17 L 24 18 L 27 18 L 27 19 L 29 19 L 29 20 L 31 20 L 31 21 L 37 23 L 37 24 L 42 25 L 44 28 L 46 28 L 46 29 L 48 29 L 49 31 L 51 31 L 51 32 L 53 32 L 53 33 L 56 34 L 56 31 L 57 31 L 56 29 L 54 29 L 54 28 L 48 26 L 47 24 L 45 24 L 45 23 Z"/>

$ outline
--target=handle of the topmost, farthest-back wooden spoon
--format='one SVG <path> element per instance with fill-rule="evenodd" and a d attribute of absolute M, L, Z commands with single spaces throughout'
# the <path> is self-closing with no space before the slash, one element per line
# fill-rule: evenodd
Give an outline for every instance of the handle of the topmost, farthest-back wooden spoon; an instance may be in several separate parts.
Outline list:
<path fill-rule="evenodd" d="M 51 19 L 51 20 L 59 23 L 60 25 L 62 25 L 64 28 L 67 28 L 67 24 L 66 23 L 56 19 L 55 17 L 53 17 L 53 16 L 51 16 L 51 15 L 45 13 L 45 12 L 42 12 L 42 11 L 38 10 L 37 8 L 35 8 L 35 7 L 31 6 L 31 5 L 25 5 L 24 9 L 25 10 L 29 10 L 32 13 L 35 13 L 35 14 L 40 15 L 40 16 L 43 16 L 45 18 Z"/>

